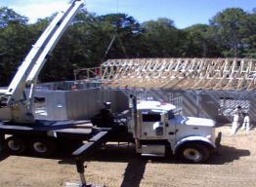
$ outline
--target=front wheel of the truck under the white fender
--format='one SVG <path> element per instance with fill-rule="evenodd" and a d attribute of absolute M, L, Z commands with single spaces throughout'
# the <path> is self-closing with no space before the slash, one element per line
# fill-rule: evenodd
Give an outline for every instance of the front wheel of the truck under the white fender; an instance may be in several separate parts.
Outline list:
<path fill-rule="evenodd" d="M 203 144 L 188 143 L 180 148 L 178 156 L 186 162 L 200 164 L 209 159 L 210 151 Z"/>

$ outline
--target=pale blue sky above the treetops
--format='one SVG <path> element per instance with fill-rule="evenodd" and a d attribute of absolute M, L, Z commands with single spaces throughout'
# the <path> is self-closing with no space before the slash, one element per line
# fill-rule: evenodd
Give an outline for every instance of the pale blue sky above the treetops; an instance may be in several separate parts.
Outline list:
<path fill-rule="evenodd" d="M 68 2 L 70 0 L 0 0 L 0 6 L 11 8 L 35 22 L 63 10 Z M 85 0 L 85 7 L 97 15 L 125 13 L 139 22 L 172 19 L 178 28 L 185 28 L 195 23 L 208 23 L 226 8 L 251 12 L 256 8 L 256 0 Z"/>

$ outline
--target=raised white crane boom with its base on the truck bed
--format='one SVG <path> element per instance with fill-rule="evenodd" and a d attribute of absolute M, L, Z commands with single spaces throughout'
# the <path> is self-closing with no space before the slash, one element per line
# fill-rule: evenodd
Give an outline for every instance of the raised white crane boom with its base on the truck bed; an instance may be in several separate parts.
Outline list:
<path fill-rule="evenodd" d="M 6 91 L 1 91 L 0 120 L 11 120 L 15 123 L 34 123 L 32 114 L 33 93 L 37 77 L 44 66 L 47 56 L 54 50 L 63 36 L 71 19 L 83 6 L 83 1 L 74 0 L 61 11 L 41 34 L 37 42 L 24 58 L 18 72 Z M 29 88 L 29 96 L 24 90 Z"/>

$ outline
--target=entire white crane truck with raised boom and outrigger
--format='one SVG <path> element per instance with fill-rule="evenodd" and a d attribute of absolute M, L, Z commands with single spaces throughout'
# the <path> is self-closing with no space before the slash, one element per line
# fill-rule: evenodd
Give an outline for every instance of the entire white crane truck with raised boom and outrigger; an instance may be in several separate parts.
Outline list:
<path fill-rule="evenodd" d="M 131 95 L 129 112 L 114 115 L 107 104 L 92 119 L 93 126 L 89 128 L 79 128 L 91 123 L 88 121 L 49 122 L 34 118 L 34 91 L 38 74 L 47 55 L 82 6 L 82 1 L 74 0 L 53 19 L 24 58 L 8 89 L 0 90 L 0 151 L 7 150 L 14 154 L 30 151 L 45 157 L 63 142 L 87 140 L 73 152 L 82 183 L 85 183 L 84 157 L 107 141 L 133 142 L 136 152 L 142 156 L 165 156 L 167 152 L 172 152 L 191 163 L 205 162 L 220 143 L 221 134 L 215 137 L 215 122 L 175 115 L 175 106 L 170 103 L 151 100 L 137 104 L 136 96 Z M 25 90 L 28 90 L 28 96 Z"/>

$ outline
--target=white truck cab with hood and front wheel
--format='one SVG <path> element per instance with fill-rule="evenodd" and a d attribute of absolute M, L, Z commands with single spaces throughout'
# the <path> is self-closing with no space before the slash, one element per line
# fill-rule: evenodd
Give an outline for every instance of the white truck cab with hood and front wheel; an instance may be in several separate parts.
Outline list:
<path fill-rule="evenodd" d="M 164 156 L 171 151 L 191 163 L 203 163 L 217 149 L 215 122 L 210 119 L 174 114 L 175 106 L 159 101 L 137 104 L 128 128 L 143 156 Z"/>

